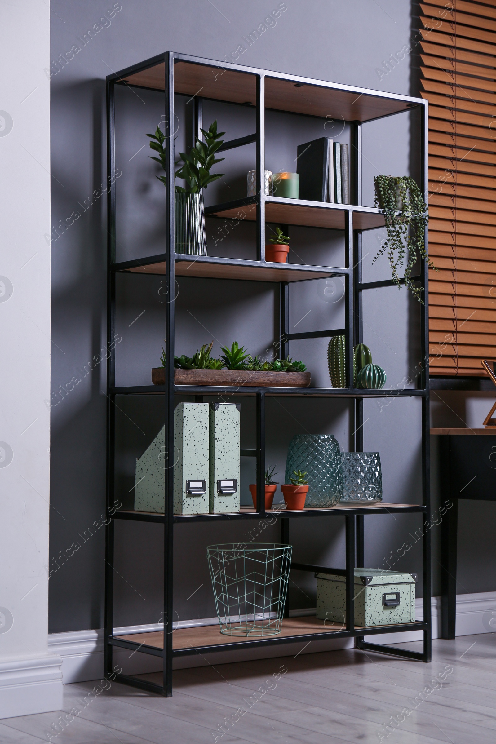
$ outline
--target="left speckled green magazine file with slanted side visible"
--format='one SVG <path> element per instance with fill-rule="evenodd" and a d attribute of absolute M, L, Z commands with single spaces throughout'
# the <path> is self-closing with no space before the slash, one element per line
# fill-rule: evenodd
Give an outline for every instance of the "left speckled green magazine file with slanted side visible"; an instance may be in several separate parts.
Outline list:
<path fill-rule="evenodd" d="M 164 513 L 164 452 L 163 426 L 136 461 L 136 511 Z M 173 456 L 174 513 L 208 513 L 208 403 L 179 403 L 176 406 Z M 204 487 L 199 482 L 199 487 L 193 489 L 196 493 L 187 493 L 190 481 L 204 481 Z"/>

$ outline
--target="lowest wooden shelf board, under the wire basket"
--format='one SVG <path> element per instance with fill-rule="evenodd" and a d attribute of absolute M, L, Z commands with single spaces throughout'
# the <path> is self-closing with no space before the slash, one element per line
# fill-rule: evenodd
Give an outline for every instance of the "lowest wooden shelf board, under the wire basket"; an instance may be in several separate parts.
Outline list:
<path fill-rule="evenodd" d="M 360 626 L 355 626 L 356 628 Z M 394 626 L 388 626 L 393 628 Z M 342 623 L 330 623 L 326 620 L 318 620 L 315 616 L 306 618 L 287 618 L 283 620 L 283 629 L 278 634 L 280 638 L 289 638 L 294 635 L 308 635 L 309 633 L 328 633 L 331 631 L 343 630 L 345 626 Z M 274 638 L 274 635 L 265 636 Z M 146 646 L 155 646 L 155 648 L 164 648 L 164 633 L 161 631 L 151 633 L 132 633 L 132 635 L 117 635 L 123 641 L 134 641 L 137 644 L 146 644 Z M 251 638 L 260 640 L 260 635 L 254 635 Z M 225 635 L 220 632 L 218 625 L 206 625 L 198 628 L 178 628 L 173 631 L 173 648 L 184 649 L 196 646 L 216 646 L 218 644 L 236 644 L 242 643 L 249 638 L 245 635 Z M 373 641 L 373 639 L 371 639 Z"/>

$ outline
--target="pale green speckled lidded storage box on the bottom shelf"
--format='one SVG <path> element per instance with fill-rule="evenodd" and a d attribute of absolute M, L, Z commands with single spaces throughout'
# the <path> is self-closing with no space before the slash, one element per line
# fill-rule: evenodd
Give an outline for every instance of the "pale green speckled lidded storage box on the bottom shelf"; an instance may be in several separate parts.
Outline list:
<path fill-rule="evenodd" d="M 416 574 L 355 568 L 355 625 L 415 622 Z M 317 574 L 317 617 L 346 623 L 344 576 Z"/>

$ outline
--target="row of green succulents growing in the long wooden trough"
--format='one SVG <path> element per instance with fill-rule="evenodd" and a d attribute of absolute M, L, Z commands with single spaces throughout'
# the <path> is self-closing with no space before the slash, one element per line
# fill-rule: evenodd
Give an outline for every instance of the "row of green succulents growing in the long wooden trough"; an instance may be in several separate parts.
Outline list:
<path fill-rule="evenodd" d="M 262 372 L 305 372 L 306 366 L 303 362 L 288 359 L 274 359 L 273 362 L 264 362 L 258 356 L 252 357 L 245 351 L 245 347 L 239 346 L 234 341 L 231 348 L 222 346 L 224 352 L 219 359 L 213 359 L 210 356 L 213 341 L 210 344 L 203 344 L 202 348 L 196 351 L 193 356 L 174 357 L 174 367 L 183 370 L 245 370 L 245 371 L 262 371 Z M 161 353 L 161 366 L 166 366 L 166 356 L 164 347 Z"/>

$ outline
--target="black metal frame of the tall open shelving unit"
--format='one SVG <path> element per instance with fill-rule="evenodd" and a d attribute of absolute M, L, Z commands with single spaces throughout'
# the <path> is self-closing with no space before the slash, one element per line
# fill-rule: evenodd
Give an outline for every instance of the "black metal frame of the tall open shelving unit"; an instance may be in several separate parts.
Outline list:
<path fill-rule="evenodd" d="M 399 96 L 395 94 L 373 92 L 364 89 L 355 89 L 350 86 L 340 86 L 335 83 L 326 83 L 320 80 L 310 80 L 308 78 L 297 77 L 294 75 L 284 75 L 275 73 L 273 71 L 265 71 L 263 69 L 248 68 L 242 65 L 225 65 L 225 63 L 216 60 L 204 60 L 199 57 L 191 57 L 185 54 L 176 54 L 175 52 L 167 52 L 165 54 L 153 57 L 151 60 L 146 60 L 138 65 L 133 65 L 126 70 L 120 71 L 119 73 L 109 75 L 107 77 L 107 165 L 109 175 L 114 172 L 115 167 L 115 85 L 129 85 L 124 83 L 123 78 L 127 77 L 135 72 L 143 71 L 146 68 L 150 68 L 161 62 L 165 63 L 165 80 L 164 80 L 164 94 L 165 94 L 165 112 L 166 121 L 174 121 L 174 62 L 176 60 L 182 60 L 184 62 L 191 62 L 199 65 L 208 65 L 210 67 L 216 67 L 225 69 L 226 67 L 236 69 L 236 71 L 245 71 L 256 76 L 257 80 L 257 132 L 254 135 L 249 135 L 245 138 L 240 138 L 237 141 L 231 141 L 226 143 L 224 150 L 231 147 L 240 147 L 248 142 L 255 141 L 257 144 L 257 190 L 258 194 L 252 199 L 242 199 L 238 202 L 233 202 L 233 205 L 240 205 L 246 203 L 254 203 L 257 205 L 257 261 L 245 261 L 236 260 L 230 258 L 210 258 L 206 257 L 202 259 L 207 263 L 219 263 L 231 266 L 260 266 L 265 264 L 265 203 L 268 201 L 292 203 L 292 200 L 276 199 L 275 197 L 265 196 L 263 173 L 265 170 L 265 131 L 264 131 L 264 102 L 265 102 L 265 74 L 270 77 L 278 77 L 281 80 L 289 80 L 293 83 L 307 83 L 309 85 L 316 85 L 325 87 L 327 89 L 334 89 L 337 91 L 348 91 L 356 93 L 359 97 L 361 94 L 364 95 L 376 95 L 383 98 L 402 100 L 409 102 L 407 105 L 410 107 L 420 107 L 423 112 L 422 117 L 422 141 L 420 145 L 420 162 L 421 162 L 421 179 L 422 185 L 427 195 L 427 117 L 428 117 L 428 103 L 425 100 L 407 96 Z M 381 118 L 381 117 L 379 117 Z M 202 98 L 196 96 L 194 106 L 194 129 L 196 133 L 199 132 L 199 127 L 202 126 Z M 346 522 L 346 568 L 343 573 L 347 578 L 347 626 L 346 629 L 340 632 L 329 632 L 329 633 L 318 633 L 307 635 L 297 635 L 291 638 L 265 638 L 260 640 L 246 641 L 236 643 L 236 649 L 251 648 L 258 646 L 287 644 L 291 641 L 311 641 L 314 638 L 323 640 L 325 638 L 355 638 L 356 646 L 363 650 L 370 650 L 375 652 L 381 652 L 386 654 L 394 654 L 403 656 L 405 658 L 412 658 L 419 661 L 431 661 L 431 544 L 430 544 L 430 530 L 425 528 L 423 530 L 422 537 L 422 559 L 423 559 L 423 597 L 424 597 L 424 618 L 422 622 L 416 622 L 409 625 L 394 627 L 394 632 L 405 632 L 411 630 L 422 630 L 424 635 L 423 650 L 422 652 L 406 651 L 403 649 L 383 647 L 377 644 L 370 644 L 364 641 L 365 636 L 369 635 L 381 635 L 386 632 L 392 632 L 392 628 L 387 626 L 372 627 L 372 628 L 359 628 L 355 629 L 354 623 L 354 603 L 353 603 L 353 588 L 354 588 L 354 568 L 355 565 L 364 564 L 364 516 L 366 514 L 384 514 L 384 513 L 421 513 L 423 515 L 423 524 L 427 525 L 428 513 L 430 511 L 430 487 L 429 487 L 429 380 L 428 380 L 428 365 L 422 364 L 422 373 L 419 379 L 419 385 L 416 389 L 405 389 L 405 390 L 362 390 L 355 389 L 353 387 L 353 362 L 352 362 L 352 350 L 354 344 L 362 340 L 362 292 L 367 289 L 373 289 L 378 286 L 391 286 L 390 280 L 380 282 L 369 282 L 364 283 L 362 281 L 361 272 L 361 231 L 353 230 L 353 212 L 363 211 L 372 212 L 378 214 L 379 210 L 374 208 L 361 207 L 361 123 L 352 122 L 352 134 L 353 134 L 353 148 L 354 155 L 352 158 L 352 164 L 354 169 L 354 183 L 355 183 L 355 194 L 354 200 L 355 205 L 330 205 L 322 202 L 302 202 L 299 200 L 299 205 L 309 205 L 312 207 L 320 207 L 327 209 L 338 209 L 344 212 L 345 217 L 345 251 L 346 251 L 346 265 L 344 268 L 335 268 L 329 266 L 318 266 L 318 267 L 306 267 L 306 266 L 291 266 L 291 265 L 280 265 L 285 271 L 288 272 L 288 281 L 280 282 L 280 355 L 286 357 L 289 353 L 289 342 L 293 339 L 302 338 L 316 338 L 319 336 L 334 336 L 336 333 L 344 333 L 347 341 L 347 388 L 249 388 L 244 391 L 238 391 L 236 394 L 251 395 L 256 397 L 257 401 L 257 450 L 256 451 L 243 451 L 243 454 L 250 454 L 257 456 L 257 509 L 251 513 L 239 513 L 239 514 L 207 514 L 197 516 L 175 516 L 173 513 L 173 468 L 166 470 L 166 510 L 164 515 L 161 514 L 148 514 L 148 513 L 135 513 L 126 511 L 117 511 L 113 514 L 109 524 L 106 525 L 106 610 L 105 610 L 105 676 L 110 679 L 115 679 L 115 670 L 113 668 L 112 661 L 112 650 L 114 647 L 126 648 L 129 650 L 136 651 L 139 649 L 141 653 L 147 653 L 155 656 L 161 656 L 164 659 L 164 676 L 163 684 L 155 684 L 151 682 L 144 682 L 142 679 L 137 677 L 127 676 L 123 673 L 117 674 L 117 679 L 125 684 L 132 684 L 135 687 L 140 687 L 143 690 L 149 690 L 157 693 L 161 693 L 165 696 L 172 695 L 172 663 L 174 656 L 194 654 L 196 652 L 205 654 L 208 652 L 218 652 L 233 648 L 232 644 L 219 644 L 216 646 L 198 647 L 193 649 L 181 649 L 173 651 L 173 532 L 174 525 L 178 522 L 196 522 L 200 520 L 222 520 L 222 519 L 254 519 L 254 516 L 258 519 L 265 518 L 265 506 L 261 494 L 263 493 L 264 484 L 264 470 L 265 470 L 265 398 L 269 397 L 345 397 L 354 401 L 354 415 L 355 415 L 355 431 L 352 434 L 351 446 L 355 451 L 361 451 L 363 449 L 363 402 L 365 398 L 369 397 L 420 397 L 422 399 L 422 504 L 418 506 L 407 506 L 407 507 L 388 507 L 384 504 L 381 507 L 374 507 L 373 510 L 366 509 L 364 507 L 333 507 L 332 510 L 304 510 L 303 512 L 295 512 L 285 514 L 284 512 L 276 513 L 278 519 L 280 519 L 281 526 L 281 539 L 283 542 L 289 542 L 289 522 L 290 519 L 305 518 L 309 519 L 313 516 L 322 517 L 326 516 L 344 516 Z M 171 184 L 174 182 L 174 153 L 173 153 L 173 141 L 170 137 L 167 137 L 167 157 L 168 157 L 168 171 L 167 178 Z M 212 213 L 214 208 L 206 210 L 206 213 Z M 166 246 L 164 254 L 159 256 L 149 257 L 144 260 L 138 261 L 126 261 L 125 263 L 115 263 L 115 187 L 112 185 L 108 195 L 108 302 L 107 302 L 107 333 L 109 341 L 114 339 L 115 335 L 115 275 L 117 272 L 129 270 L 138 266 L 144 266 L 147 263 L 156 263 L 158 261 L 165 261 L 167 267 L 165 269 L 165 275 L 167 280 L 167 286 L 173 287 L 175 284 L 175 261 L 185 260 L 184 255 L 175 254 L 174 250 L 174 191 L 173 189 L 167 190 L 167 236 Z M 425 242 L 427 245 L 427 232 L 425 234 Z M 280 268 L 279 266 L 277 268 Z M 345 282 L 345 303 L 346 303 L 346 321 L 345 328 L 342 330 L 326 330 L 314 333 L 297 333 L 290 334 L 289 332 L 289 282 L 292 279 L 292 270 L 297 269 L 299 272 L 307 272 L 309 270 L 318 270 L 321 275 L 324 276 L 341 276 Z M 421 318 L 421 348 L 422 348 L 422 359 L 426 360 L 428 355 L 428 312 L 427 312 L 427 286 L 428 286 L 428 266 L 425 261 L 422 260 L 421 271 L 419 277 L 416 278 L 420 285 L 424 288 L 425 305 L 422 307 L 422 318 Z M 174 303 L 168 303 L 166 308 L 166 357 L 167 357 L 167 385 L 153 386 L 146 385 L 135 388 L 116 388 L 115 387 L 115 352 L 112 350 L 107 360 L 107 508 L 112 510 L 112 504 L 114 503 L 114 466 L 115 466 L 115 396 L 116 395 L 144 395 L 144 394 L 158 394 L 164 397 L 165 402 L 165 421 L 166 427 L 166 452 L 170 452 L 173 449 L 173 407 L 174 407 L 174 396 L 175 395 L 194 395 L 196 400 L 202 400 L 202 395 L 216 395 L 226 394 L 230 391 L 226 388 L 214 388 L 214 387 L 202 387 L 198 386 L 181 386 L 174 385 Z M 112 345 L 112 344 L 111 344 Z M 231 391 L 232 394 L 232 391 Z M 167 498 L 167 494 L 170 494 L 170 498 Z M 274 513 L 271 513 L 273 516 Z M 115 638 L 113 635 L 113 560 L 114 560 L 114 529 L 116 519 L 126 519 L 141 522 L 155 522 L 164 525 L 164 650 L 156 647 L 147 646 L 146 644 L 134 643 L 132 641 L 124 641 L 120 638 Z M 314 571 L 315 566 L 305 564 L 295 564 L 294 569 L 303 571 Z M 288 616 L 289 609 L 286 607 L 286 617 Z"/>

